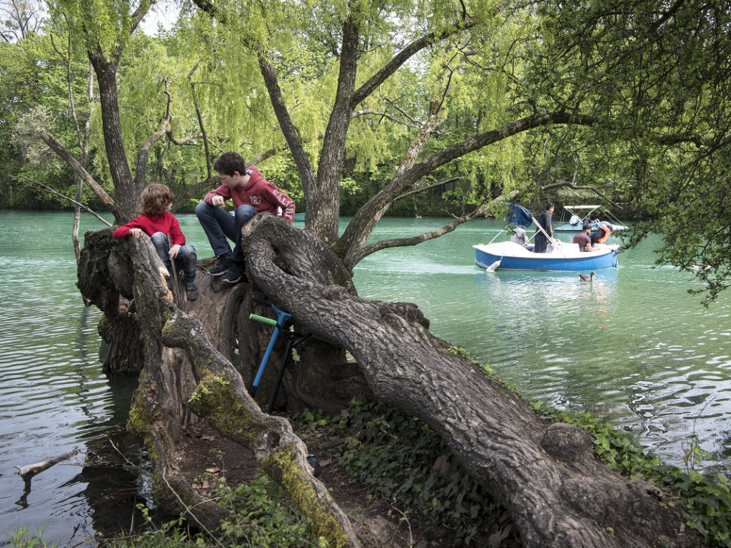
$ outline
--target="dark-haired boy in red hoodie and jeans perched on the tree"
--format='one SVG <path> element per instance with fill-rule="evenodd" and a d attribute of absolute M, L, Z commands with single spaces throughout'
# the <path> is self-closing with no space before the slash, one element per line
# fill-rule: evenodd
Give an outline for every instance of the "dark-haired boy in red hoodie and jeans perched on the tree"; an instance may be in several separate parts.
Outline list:
<path fill-rule="evenodd" d="M 213 163 L 213 170 L 223 184 L 208 192 L 195 208 L 213 253 L 219 258 L 208 274 L 225 275 L 224 281 L 228 283 L 238 283 L 242 278 L 246 281 L 241 251 L 243 225 L 262 211 L 276 216 L 280 208 L 282 218 L 292 224 L 295 220 L 295 202 L 266 180 L 256 166 L 247 166 L 238 152 L 221 154 Z M 233 202 L 233 215 L 222 208 L 227 199 Z M 235 243 L 233 251 L 227 238 Z"/>

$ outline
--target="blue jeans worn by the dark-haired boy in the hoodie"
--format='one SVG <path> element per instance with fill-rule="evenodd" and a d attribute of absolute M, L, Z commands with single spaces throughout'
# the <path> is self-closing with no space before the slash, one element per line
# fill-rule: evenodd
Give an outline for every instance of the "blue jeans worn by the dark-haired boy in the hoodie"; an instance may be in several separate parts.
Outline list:
<path fill-rule="evenodd" d="M 238 206 L 234 215 L 207 202 L 200 202 L 195 207 L 195 215 L 200 221 L 200 226 L 203 227 L 203 232 L 208 236 L 213 253 L 217 257 L 231 256 L 231 259 L 235 262 L 243 262 L 241 229 L 256 214 L 257 210 L 252 208 L 251 205 Z M 233 252 L 226 238 L 235 243 Z"/>

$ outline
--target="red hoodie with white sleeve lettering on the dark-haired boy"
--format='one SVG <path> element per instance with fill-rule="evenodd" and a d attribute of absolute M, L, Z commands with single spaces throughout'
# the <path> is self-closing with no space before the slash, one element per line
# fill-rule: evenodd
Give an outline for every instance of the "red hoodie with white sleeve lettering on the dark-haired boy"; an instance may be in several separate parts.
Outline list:
<path fill-rule="evenodd" d="M 226 185 L 219 186 L 205 195 L 205 202 L 211 203 L 213 196 L 222 196 L 224 200 L 232 199 L 234 208 L 240 205 L 251 205 L 258 213 L 268 211 L 272 215 L 279 214 L 281 208 L 282 218 L 292 224 L 295 221 L 295 202 L 292 198 L 279 190 L 274 183 L 266 180 L 256 166 L 246 168 L 249 174 L 249 182 L 246 186 L 237 186 L 229 189 Z"/>

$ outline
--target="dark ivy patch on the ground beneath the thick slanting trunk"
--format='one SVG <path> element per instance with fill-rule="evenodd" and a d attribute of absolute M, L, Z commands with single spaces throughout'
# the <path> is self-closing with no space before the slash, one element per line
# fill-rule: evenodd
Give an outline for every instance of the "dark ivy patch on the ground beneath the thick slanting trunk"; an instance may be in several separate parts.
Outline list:
<path fill-rule="evenodd" d="M 295 417 L 300 433 L 326 430 L 346 436 L 341 465 L 368 490 L 406 516 L 419 516 L 432 531 L 453 530 L 465 545 L 499 509 L 458 465 L 439 435 L 420 419 L 383 403 L 353 400 L 328 419 L 307 410 Z"/>

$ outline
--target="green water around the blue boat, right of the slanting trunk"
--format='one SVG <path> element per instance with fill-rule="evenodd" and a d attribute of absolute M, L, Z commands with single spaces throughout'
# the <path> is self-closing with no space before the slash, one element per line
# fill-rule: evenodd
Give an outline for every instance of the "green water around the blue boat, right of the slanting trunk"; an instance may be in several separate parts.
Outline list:
<path fill-rule="evenodd" d="M 388 220 L 377 236 L 438 225 Z M 692 275 L 654 267 L 658 237 L 621 252 L 619 267 L 591 284 L 575 273 L 485 273 L 471 246 L 500 228 L 475 220 L 444 239 L 376 254 L 357 269 L 360 294 L 416 302 L 436 335 L 527 397 L 592 411 L 670 463 L 683 464 L 697 435 L 711 454 L 705 465 L 730 464 L 731 294 L 704 308 L 687 292 L 702 287 Z"/>

